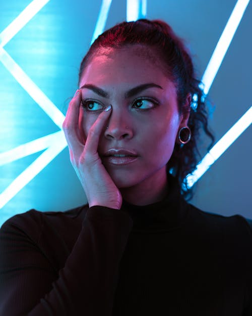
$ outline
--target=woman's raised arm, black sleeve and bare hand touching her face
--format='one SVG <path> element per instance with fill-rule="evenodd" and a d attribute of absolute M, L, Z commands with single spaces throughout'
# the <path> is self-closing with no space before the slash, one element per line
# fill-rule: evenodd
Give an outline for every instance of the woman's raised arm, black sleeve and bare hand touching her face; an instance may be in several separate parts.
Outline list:
<path fill-rule="evenodd" d="M 8 221 L 2 230 L 0 250 L 1 315 L 98 316 L 111 313 L 118 264 L 131 229 L 131 219 L 120 211 L 120 191 L 98 154 L 99 138 L 111 114 L 111 106 L 99 114 L 87 137 L 83 138 L 82 126 L 78 127 L 80 104 L 79 90 L 70 102 L 63 124 L 71 162 L 90 206 L 80 236 L 65 267 L 57 272 L 38 248 L 36 239 L 26 234 L 27 227 L 20 228 Z M 41 227 L 40 223 L 37 231 L 41 231 Z M 32 230 L 32 225 L 29 228 Z"/>

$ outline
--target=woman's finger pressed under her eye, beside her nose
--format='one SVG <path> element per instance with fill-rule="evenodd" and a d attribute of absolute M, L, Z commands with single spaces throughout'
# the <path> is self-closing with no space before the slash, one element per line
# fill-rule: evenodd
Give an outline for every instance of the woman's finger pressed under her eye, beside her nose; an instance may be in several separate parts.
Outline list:
<path fill-rule="evenodd" d="M 97 154 L 100 135 L 111 114 L 111 109 L 112 107 L 109 105 L 104 111 L 102 111 L 90 128 L 84 149 L 85 158 L 90 158 L 89 155 L 94 156 Z"/>

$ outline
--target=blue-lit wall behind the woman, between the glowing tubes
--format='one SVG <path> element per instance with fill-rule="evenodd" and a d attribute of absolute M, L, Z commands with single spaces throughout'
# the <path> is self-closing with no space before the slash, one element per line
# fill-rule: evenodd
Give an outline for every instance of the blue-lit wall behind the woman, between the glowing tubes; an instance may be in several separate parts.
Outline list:
<path fill-rule="evenodd" d="M 31 0 L 2 1 L 0 33 L 30 3 Z M 4 46 L 9 56 L 64 114 L 77 88 L 79 64 L 89 48 L 101 3 L 50 0 Z M 147 18 L 165 20 L 186 39 L 201 77 L 235 4 L 235 0 L 147 0 Z M 113 0 L 105 28 L 125 20 L 126 8 L 126 0 Z M 252 105 L 251 29 L 250 2 L 209 93 L 215 108 L 210 124 L 216 141 Z M 5 152 L 59 130 L 2 59 L 3 51 L 0 51 L 0 162 L 4 161 Z M 199 180 L 192 203 L 205 211 L 238 213 L 252 218 L 251 145 L 250 125 Z M 0 193 L 43 151 L 0 164 Z M 0 203 L 1 198 L 3 195 Z M 83 203 L 86 197 L 65 148 L 1 208 L 0 225 L 30 208 L 56 211 Z"/>

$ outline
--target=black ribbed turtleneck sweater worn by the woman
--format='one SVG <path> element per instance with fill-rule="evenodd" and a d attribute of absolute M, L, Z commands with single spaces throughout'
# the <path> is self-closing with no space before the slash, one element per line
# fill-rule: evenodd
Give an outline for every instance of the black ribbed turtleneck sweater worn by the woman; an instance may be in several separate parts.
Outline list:
<path fill-rule="evenodd" d="M 175 186 L 173 186 L 175 188 Z M 0 230 L 1 316 L 252 316 L 252 234 L 186 203 L 30 210 Z"/>

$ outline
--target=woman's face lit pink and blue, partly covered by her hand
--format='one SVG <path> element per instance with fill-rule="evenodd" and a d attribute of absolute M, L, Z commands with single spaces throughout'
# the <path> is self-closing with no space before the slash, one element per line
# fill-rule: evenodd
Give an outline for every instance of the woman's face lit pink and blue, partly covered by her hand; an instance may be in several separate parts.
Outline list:
<path fill-rule="evenodd" d="M 178 113 L 175 86 L 157 60 L 151 49 L 139 45 L 101 51 L 80 80 L 84 107 L 79 127 L 85 138 L 101 110 L 112 105 L 98 153 L 118 188 L 166 180 L 178 129 L 187 122 Z M 104 156 L 113 149 L 135 157 Z"/>

